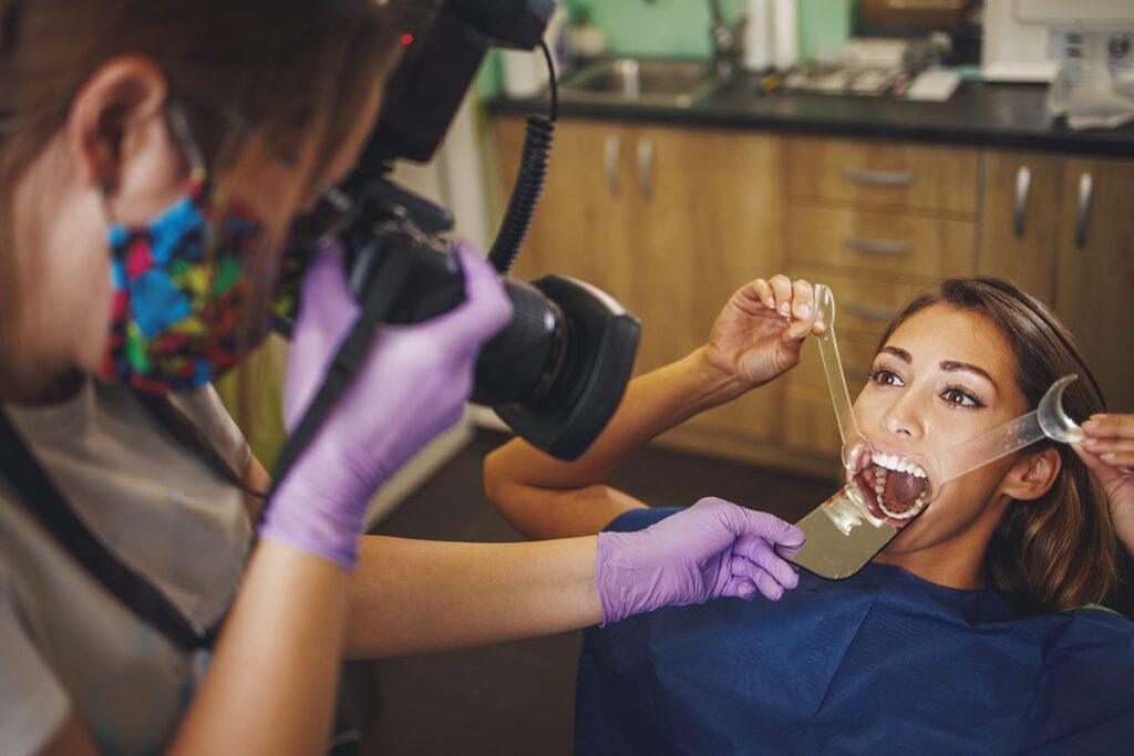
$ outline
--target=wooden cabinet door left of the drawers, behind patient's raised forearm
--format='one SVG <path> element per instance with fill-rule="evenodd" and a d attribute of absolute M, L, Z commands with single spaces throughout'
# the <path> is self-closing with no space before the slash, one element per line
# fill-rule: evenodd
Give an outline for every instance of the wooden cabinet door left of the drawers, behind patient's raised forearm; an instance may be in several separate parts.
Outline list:
<path fill-rule="evenodd" d="M 741 131 L 646 127 L 635 134 L 633 300 L 643 314 L 640 364 L 702 346 L 728 298 L 782 269 L 781 142 Z M 781 425 L 778 383 L 706 413 L 688 430 L 743 444 Z"/>

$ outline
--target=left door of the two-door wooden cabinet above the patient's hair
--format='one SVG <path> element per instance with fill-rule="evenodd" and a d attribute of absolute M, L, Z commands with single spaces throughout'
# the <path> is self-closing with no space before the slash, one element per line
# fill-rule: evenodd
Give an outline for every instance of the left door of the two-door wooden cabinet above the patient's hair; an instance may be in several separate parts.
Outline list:
<path fill-rule="evenodd" d="M 981 219 L 982 273 L 1055 300 L 1063 158 L 989 151 Z"/>

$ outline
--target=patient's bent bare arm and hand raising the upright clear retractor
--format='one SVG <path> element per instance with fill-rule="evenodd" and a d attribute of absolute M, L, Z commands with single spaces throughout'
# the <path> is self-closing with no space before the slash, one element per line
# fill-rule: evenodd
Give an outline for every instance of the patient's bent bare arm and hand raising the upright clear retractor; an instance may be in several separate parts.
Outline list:
<path fill-rule="evenodd" d="M 581 459 L 564 462 L 521 440 L 492 452 L 484 462 L 489 498 L 532 538 L 598 533 L 621 512 L 644 507 L 602 482 L 654 436 L 795 366 L 802 339 L 787 332 L 786 313 L 805 318 L 811 301 L 810 283 L 782 275 L 739 289 L 704 347 L 631 383 L 607 430 Z"/>

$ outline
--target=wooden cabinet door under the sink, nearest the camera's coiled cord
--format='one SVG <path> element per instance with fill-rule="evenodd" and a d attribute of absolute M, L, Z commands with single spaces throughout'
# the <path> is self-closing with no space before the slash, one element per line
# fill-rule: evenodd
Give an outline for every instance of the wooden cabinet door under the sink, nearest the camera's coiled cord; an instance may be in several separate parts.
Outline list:
<path fill-rule="evenodd" d="M 524 121 L 497 121 L 502 186 L 510 196 L 524 145 Z M 631 129 L 617 124 L 559 121 L 535 221 L 516 262 L 518 278 L 548 273 L 593 283 L 638 317 L 629 298 L 627 215 Z"/>

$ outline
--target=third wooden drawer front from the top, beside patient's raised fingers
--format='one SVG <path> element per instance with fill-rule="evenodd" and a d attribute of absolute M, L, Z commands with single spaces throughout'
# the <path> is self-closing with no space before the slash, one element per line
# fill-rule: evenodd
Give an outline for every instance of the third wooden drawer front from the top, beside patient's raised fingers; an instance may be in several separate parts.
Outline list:
<path fill-rule="evenodd" d="M 840 340 L 873 345 L 903 305 L 928 287 L 832 275 L 796 266 L 789 275 L 826 283 L 835 295 L 835 328 Z"/>

